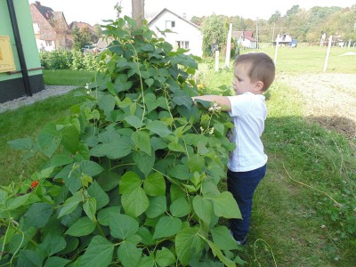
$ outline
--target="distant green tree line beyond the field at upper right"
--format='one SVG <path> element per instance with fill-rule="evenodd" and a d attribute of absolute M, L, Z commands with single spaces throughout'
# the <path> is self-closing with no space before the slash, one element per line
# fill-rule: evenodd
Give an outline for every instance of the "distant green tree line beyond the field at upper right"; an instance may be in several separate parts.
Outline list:
<path fill-rule="evenodd" d="M 284 16 L 276 11 L 268 20 L 213 14 L 207 17 L 193 16 L 191 22 L 202 29 L 205 53 L 209 53 L 211 44 L 223 47 L 230 23 L 232 30 L 258 32 L 260 43 L 271 43 L 278 34 L 285 33 L 297 39 L 299 43 L 320 43 L 324 33 L 327 38 L 335 36 L 346 42 L 356 40 L 356 4 L 346 8 L 314 6 L 309 10 L 293 5 Z"/>

